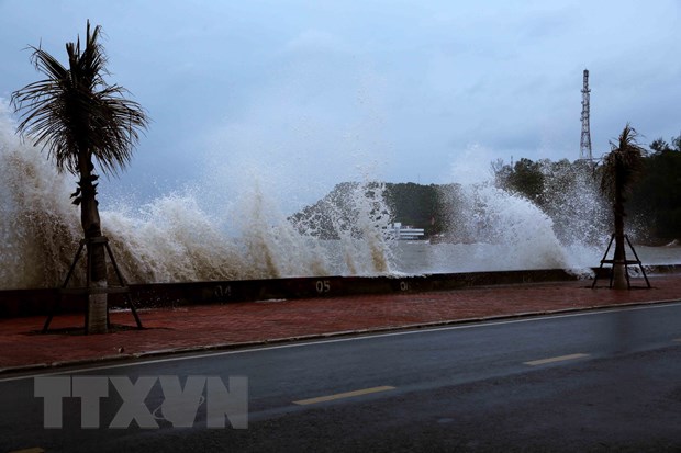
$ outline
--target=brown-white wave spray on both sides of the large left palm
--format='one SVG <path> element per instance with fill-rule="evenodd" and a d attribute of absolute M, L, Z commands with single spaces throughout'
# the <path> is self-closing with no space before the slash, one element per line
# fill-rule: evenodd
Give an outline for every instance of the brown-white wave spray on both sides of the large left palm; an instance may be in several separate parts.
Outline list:
<path fill-rule="evenodd" d="M 82 231 L 68 194 L 75 178 L 57 173 L 45 152 L 21 143 L 5 105 L 0 112 L 0 288 L 55 287 L 74 260 Z M 104 183 L 115 183 L 105 181 Z M 249 178 L 228 206 L 209 214 L 197 184 L 141 206 L 103 200 L 103 234 L 132 283 L 272 279 L 390 272 L 390 249 L 380 186 L 350 191 L 351 220 L 340 240 L 301 231 L 281 201 Z M 280 194 L 286 196 L 286 194 Z M 345 215 L 345 214 L 344 214 Z M 82 284 L 85 259 L 74 284 Z M 113 276 L 113 274 L 110 274 Z"/>

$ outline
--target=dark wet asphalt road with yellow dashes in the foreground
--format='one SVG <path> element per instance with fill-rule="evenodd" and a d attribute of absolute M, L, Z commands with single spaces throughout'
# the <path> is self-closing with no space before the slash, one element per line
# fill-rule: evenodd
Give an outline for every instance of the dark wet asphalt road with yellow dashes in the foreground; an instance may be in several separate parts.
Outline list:
<path fill-rule="evenodd" d="M 107 396 L 56 410 L 55 392 Z M 681 303 L 4 377 L 0 395 L 10 452 L 680 451 Z"/>

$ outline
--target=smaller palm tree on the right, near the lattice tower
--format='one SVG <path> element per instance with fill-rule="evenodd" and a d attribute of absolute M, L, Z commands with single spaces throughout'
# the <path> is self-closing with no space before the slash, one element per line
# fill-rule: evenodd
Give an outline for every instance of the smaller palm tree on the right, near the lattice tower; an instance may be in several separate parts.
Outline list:
<path fill-rule="evenodd" d="M 636 140 L 638 133 L 627 125 L 619 134 L 617 143 L 610 143 L 611 151 L 603 158 L 601 192 L 613 203 L 615 217 L 615 254 L 613 257 L 614 287 L 626 290 L 624 251 L 624 202 L 625 195 L 639 178 L 644 167 L 646 150 Z"/>

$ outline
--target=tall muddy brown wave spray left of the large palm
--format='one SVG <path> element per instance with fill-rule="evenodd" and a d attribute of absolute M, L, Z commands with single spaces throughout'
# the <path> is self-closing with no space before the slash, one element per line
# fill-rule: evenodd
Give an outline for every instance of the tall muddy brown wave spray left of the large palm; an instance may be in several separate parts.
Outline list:
<path fill-rule="evenodd" d="M 55 286 L 80 237 L 76 184 L 14 131 L 0 103 L 0 287 Z"/>

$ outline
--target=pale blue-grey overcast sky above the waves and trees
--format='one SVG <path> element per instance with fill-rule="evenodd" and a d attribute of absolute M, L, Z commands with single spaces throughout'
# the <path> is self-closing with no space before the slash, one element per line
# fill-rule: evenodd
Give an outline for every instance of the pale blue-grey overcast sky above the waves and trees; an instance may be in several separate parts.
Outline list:
<path fill-rule="evenodd" d="M 256 181 L 310 202 L 574 160 L 585 68 L 594 156 L 627 122 L 681 134 L 680 0 L 0 0 L 0 98 L 40 78 L 27 45 L 65 61 L 87 19 L 153 120 L 107 183 L 143 196 Z"/>

